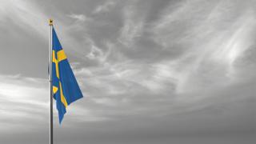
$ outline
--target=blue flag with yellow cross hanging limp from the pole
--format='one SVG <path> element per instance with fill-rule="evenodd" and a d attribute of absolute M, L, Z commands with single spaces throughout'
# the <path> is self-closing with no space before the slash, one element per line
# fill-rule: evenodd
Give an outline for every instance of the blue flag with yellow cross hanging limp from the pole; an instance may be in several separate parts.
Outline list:
<path fill-rule="evenodd" d="M 58 109 L 59 123 L 62 123 L 64 114 L 66 114 L 66 106 L 82 98 L 82 92 L 71 70 L 66 54 L 62 50 L 61 43 L 58 40 L 54 28 L 52 29 L 52 46 L 52 89 Z"/>

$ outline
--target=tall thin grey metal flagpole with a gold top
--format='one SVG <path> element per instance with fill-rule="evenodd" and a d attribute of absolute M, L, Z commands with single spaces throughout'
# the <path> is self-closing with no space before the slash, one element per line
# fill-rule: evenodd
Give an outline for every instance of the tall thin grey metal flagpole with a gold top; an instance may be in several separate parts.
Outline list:
<path fill-rule="evenodd" d="M 54 118 L 53 118 L 53 77 L 52 77 L 52 29 L 53 29 L 53 20 L 49 19 L 49 82 L 50 82 L 50 138 L 49 138 L 49 143 L 53 144 L 54 143 Z"/>

